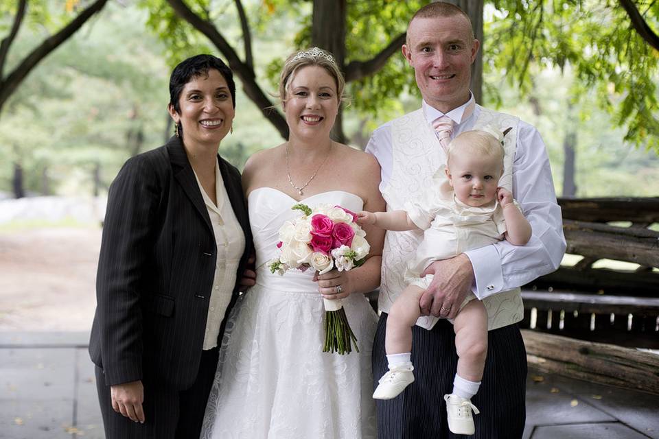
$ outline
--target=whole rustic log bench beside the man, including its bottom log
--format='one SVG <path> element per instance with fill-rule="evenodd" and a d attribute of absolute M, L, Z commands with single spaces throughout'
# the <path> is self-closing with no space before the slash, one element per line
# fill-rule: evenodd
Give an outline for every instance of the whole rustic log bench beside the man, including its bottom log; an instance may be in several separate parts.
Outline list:
<path fill-rule="evenodd" d="M 659 198 L 559 204 L 567 253 L 581 260 L 522 287 L 529 365 L 659 394 L 659 355 L 635 349 L 659 349 Z"/>

